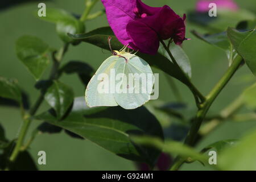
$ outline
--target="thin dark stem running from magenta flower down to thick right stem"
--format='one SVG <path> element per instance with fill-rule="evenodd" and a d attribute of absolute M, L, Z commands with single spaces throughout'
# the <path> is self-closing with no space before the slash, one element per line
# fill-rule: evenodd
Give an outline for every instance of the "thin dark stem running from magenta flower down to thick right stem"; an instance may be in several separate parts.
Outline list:
<path fill-rule="evenodd" d="M 177 61 L 175 60 L 174 56 L 172 55 L 170 49 L 166 46 L 166 43 L 162 39 L 160 39 L 160 42 L 163 44 L 164 49 L 166 49 L 168 55 L 171 57 L 172 63 L 177 67 L 177 69 L 180 69 L 180 72 L 183 74 L 185 78 L 187 78 L 187 86 L 193 93 L 193 96 L 195 97 L 196 100 L 196 105 L 197 107 L 200 107 L 200 104 L 205 101 L 205 97 L 201 92 L 196 88 L 195 85 L 192 84 L 191 80 L 187 77 L 187 75 L 184 73 L 183 69 L 180 68 L 179 64 L 177 64 Z"/>

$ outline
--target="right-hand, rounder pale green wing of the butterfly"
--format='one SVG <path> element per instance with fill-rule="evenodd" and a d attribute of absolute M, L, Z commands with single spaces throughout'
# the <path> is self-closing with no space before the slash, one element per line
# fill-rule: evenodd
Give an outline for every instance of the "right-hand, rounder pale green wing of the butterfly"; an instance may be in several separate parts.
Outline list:
<path fill-rule="evenodd" d="M 124 77 L 115 82 L 114 99 L 125 109 L 135 109 L 150 100 L 154 75 L 150 65 L 138 56 L 131 57 L 127 62 L 122 57 L 120 59 L 122 61 L 115 65 L 115 71 L 117 77 L 118 73 L 123 73 Z"/>

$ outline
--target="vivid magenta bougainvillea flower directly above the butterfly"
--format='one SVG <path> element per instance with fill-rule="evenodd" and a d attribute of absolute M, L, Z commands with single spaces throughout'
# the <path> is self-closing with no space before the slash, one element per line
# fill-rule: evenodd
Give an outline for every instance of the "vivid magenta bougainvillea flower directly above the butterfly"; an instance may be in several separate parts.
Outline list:
<path fill-rule="evenodd" d="M 185 40 L 185 15 L 181 18 L 170 7 L 150 7 L 141 0 L 101 0 L 115 36 L 123 45 L 155 54 L 159 39 Z"/>

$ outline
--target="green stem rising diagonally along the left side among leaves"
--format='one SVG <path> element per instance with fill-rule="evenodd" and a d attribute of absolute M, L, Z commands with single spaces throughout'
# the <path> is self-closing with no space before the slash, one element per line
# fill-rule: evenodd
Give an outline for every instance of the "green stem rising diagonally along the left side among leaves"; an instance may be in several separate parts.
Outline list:
<path fill-rule="evenodd" d="M 63 58 L 65 52 L 67 52 L 68 44 L 65 44 L 62 49 L 64 51 L 61 52 L 61 56 L 60 56 L 61 59 Z M 59 68 L 59 61 L 57 61 L 55 59 L 55 53 L 53 53 L 52 57 L 53 57 L 53 65 L 52 65 L 51 73 L 49 75 L 49 80 L 55 79 L 55 77 L 57 75 L 58 68 Z M 35 104 L 31 107 L 29 114 L 24 115 L 22 129 L 20 130 L 18 140 L 17 140 L 14 150 L 9 158 L 10 162 L 14 162 L 16 157 L 18 156 L 20 150 L 22 150 L 23 141 L 24 141 L 24 138 L 26 137 L 28 127 L 30 126 L 32 117 L 35 115 L 36 111 L 38 110 L 39 106 L 42 104 L 42 102 L 44 100 L 44 94 L 46 94 L 46 90 L 43 90 L 41 92 L 39 98 L 36 100 Z"/>

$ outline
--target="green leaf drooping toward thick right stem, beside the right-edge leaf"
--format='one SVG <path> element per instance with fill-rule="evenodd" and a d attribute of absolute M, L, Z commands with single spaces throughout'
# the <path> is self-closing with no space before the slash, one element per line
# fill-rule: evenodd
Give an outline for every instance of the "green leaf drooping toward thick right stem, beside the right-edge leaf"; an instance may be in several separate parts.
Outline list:
<path fill-rule="evenodd" d="M 232 60 L 232 54 L 234 52 L 234 49 L 228 39 L 226 32 L 221 32 L 221 33 L 212 34 L 212 35 L 208 35 L 208 34 L 202 35 L 196 31 L 192 31 L 192 34 L 195 35 L 197 38 L 204 40 L 204 42 L 207 42 L 207 43 L 212 44 L 218 48 L 221 48 L 222 50 L 224 50 L 226 52 L 228 59 Z M 229 64 L 231 64 L 231 63 L 229 63 Z"/>

